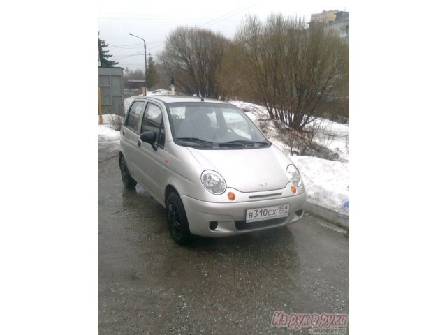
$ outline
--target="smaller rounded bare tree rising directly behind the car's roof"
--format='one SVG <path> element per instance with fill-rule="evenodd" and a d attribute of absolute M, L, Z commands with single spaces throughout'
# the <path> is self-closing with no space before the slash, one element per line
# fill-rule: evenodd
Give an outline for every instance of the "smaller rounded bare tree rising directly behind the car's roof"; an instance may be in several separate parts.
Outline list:
<path fill-rule="evenodd" d="M 159 59 L 185 94 L 223 98 L 219 76 L 228 43 L 223 35 L 212 31 L 179 27 L 168 36 Z"/>

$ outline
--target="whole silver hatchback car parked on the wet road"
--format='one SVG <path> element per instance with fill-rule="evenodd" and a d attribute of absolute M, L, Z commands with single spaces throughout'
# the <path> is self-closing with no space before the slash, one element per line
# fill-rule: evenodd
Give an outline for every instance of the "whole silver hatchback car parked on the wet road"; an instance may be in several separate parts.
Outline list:
<path fill-rule="evenodd" d="M 137 98 L 121 130 L 126 188 L 166 208 L 178 244 L 280 227 L 303 215 L 300 172 L 235 105 L 207 98 Z"/>

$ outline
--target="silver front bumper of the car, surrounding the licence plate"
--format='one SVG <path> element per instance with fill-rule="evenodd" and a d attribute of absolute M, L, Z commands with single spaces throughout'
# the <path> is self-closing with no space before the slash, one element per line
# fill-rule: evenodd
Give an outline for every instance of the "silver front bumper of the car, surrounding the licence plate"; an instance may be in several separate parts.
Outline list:
<path fill-rule="evenodd" d="M 306 193 L 288 197 L 248 202 L 205 202 L 182 195 L 182 202 L 188 218 L 189 230 L 192 234 L 207 237 L 223 237 L 244 232 L 254 232 L 274 227 L 281 227 L 295 223 L 304 213 Z M 265 221 L 245 222 L 247 209 L 271 207 L 288 204 L 289 211 L 286 218 L 274 218 Z M 210 223 L 217 223 L 217 227 L 210 229 Z"/>

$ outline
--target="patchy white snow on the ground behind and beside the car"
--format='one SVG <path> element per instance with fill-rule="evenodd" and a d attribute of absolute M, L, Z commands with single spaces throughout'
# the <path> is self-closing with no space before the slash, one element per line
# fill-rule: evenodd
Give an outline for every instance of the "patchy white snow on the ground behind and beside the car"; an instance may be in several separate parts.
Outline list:
<path fill-rule="evenodd" d="M 147 95 L 161 94 L 170 94 L 170 91 L 160 89 L 154 92 L 149 91 Z M 141 95 L 125 99 L 126 110 L 138 97 Z M 281 125 L 270 120 L 265 107 L 244 101 L 229 102 L 244 110 L 256 126 L 263 130 L 265 136 L 276 147 L 288 154 L 291 161 L 300 170 L 310 202 L 337 211 L 349 212 L 349 125 L 337 124 L 327 119 L 315 121 L 318 122 L 315 141 L 337 152 L 345 163 L 311 156 L 290 156 L 287 144 L 279 140 Z M 113 130 L 108 125 L 98 125 L 98 140 L 119 141 L 119 131 Z"/>

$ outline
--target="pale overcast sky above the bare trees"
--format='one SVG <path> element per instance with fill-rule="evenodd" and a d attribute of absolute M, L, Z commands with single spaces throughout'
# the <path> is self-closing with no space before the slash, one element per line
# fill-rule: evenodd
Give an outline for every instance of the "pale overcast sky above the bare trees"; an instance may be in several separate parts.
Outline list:
<path fill-rule="evenodd" d="M 322 10 L 347 10 L 347 0 L 221 0 L 221 1 L 101 1 L 98 11 L 100 38 L 109 44 L 118 66 L 132 69 L 145 66 L 142 40 L 147 54 L 163 50 L 166 37 L 177 26 L 198 26 L 233 38 L 246 15 L 265 18 L 271 13 L 305 17 Z"/>

